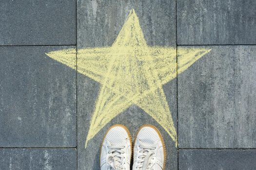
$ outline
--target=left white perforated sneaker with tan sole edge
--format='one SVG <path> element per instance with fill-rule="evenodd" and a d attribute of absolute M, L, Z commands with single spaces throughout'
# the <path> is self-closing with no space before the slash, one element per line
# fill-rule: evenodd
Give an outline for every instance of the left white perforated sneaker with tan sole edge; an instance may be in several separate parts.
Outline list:
<path fill-rule="evenodd" d="M 100 170 L 130 170 L 132 137 L 121 125 L 111 126 L 106 132 L 100 151 Z"/>

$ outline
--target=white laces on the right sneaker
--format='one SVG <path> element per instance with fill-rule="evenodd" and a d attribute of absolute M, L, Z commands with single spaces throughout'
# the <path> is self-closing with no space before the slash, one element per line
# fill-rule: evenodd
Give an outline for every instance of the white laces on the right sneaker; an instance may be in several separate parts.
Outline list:
<path fill-rule="evenodd" d="M 155 154 L 156 147 L 140 145 L 139 148 L 141 149 L 139 153 L 142 153 L 142 155 L 138 156 L 139 165 L 136 168 L 139 170 L 151 170 L 154 166 L 152 156 Z"/>

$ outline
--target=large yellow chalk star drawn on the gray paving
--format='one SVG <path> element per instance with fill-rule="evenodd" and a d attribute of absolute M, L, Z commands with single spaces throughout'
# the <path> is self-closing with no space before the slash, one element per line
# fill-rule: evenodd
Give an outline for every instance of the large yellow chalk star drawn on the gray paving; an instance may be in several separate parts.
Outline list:
<path fill-rule="evenodd" d="M 112 47 L 78 50 L 77 71 L 101 84 L 86 139 L 132 104 L 155 119 L 177 145 L 177 133 L 162 85 L 176 78 L 209 49 L 149 47 L 131 10 Z M 76 69 L 75 49 L 52 51 L 51 58 Z M 146 123 L 146 122 L 145 122 Z"/>

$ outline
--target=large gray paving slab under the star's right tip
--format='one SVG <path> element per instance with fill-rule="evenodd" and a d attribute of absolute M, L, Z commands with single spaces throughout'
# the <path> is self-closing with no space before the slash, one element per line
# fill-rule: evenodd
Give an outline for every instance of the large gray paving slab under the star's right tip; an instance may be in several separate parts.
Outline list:
<path fill-rule="evenodd" d="M 208 48 L 178 75 L 179 148 L 255 148 L 256 46 Z"/>

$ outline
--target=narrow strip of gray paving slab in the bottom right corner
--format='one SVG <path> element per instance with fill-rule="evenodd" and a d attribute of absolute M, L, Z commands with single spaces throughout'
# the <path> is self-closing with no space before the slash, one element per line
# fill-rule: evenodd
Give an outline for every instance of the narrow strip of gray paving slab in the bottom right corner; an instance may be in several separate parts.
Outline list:
<path fill-rule="evenodd" d="M 179 170 L 255 170 L 256 150 L 179 150 Z"/>

